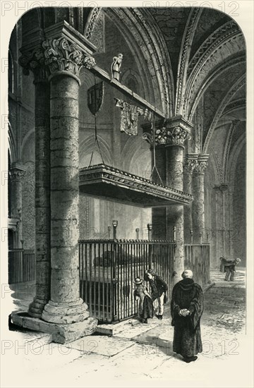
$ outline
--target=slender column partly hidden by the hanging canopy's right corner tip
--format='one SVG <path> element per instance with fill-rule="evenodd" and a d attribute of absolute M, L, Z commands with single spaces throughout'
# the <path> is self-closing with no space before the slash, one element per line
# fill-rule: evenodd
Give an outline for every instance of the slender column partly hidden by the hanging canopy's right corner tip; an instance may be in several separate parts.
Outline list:
<path fill-rule="evenodd" d="M 192 194 L 193 192 L 193 169 L 198 162 L 198 154 L 187 154 L 183 163 L 183 191 Z M 183 209 L 184 219 L 184 242 L 191 244 L 191 231 L 193 230 L 192 222 L 192 202 Z"/>

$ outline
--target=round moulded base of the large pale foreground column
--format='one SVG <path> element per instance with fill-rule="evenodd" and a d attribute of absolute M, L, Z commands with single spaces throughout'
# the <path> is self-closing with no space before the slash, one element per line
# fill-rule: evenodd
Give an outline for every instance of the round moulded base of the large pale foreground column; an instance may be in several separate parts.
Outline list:
<path fill-rule="evenodd" d="M 59 325 L 70 325 L 82 322 L 89 317 L 87 304 L 82 298 L 70 303 L 57 303 L 49 301 L 42 312 L 42 320 Z"/>

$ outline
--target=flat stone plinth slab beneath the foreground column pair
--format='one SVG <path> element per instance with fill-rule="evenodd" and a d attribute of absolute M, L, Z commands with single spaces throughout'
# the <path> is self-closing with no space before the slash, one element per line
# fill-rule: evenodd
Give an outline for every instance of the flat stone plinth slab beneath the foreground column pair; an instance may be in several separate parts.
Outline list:
<path fill-rule="evenodd" d="M 91 335 L 97 327 L 97 319 L 92 317 L 70 325 L 56 325 L 30 317 L 26 311 L 19 311 L 18 313 L 14 311 L 11 313 L 11 321 L 14 325 L 26 329 L 52 334 L 52 341 L 57 344 L 68 344 L 68 342 Z"/>

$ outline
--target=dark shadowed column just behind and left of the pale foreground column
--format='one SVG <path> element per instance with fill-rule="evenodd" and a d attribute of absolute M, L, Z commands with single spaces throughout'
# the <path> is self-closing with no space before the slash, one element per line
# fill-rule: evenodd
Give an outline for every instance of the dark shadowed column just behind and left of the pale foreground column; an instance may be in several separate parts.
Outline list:
<path fill-rule="evenodd" d="M 35 260 L 36 293 L 31 317 L 42 317 L 50 298 L 50 90 L 41 44 L 20 56 L 24 73 L 35 76 Z"/>

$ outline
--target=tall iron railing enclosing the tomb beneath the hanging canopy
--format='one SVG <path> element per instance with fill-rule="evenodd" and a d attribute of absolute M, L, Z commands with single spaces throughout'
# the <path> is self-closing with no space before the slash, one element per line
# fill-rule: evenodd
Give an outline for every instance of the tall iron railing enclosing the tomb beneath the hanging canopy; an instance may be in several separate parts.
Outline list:
<path fill-rule="evenodd" d="M 90 316 L 99 322 L 119 322 L 138 311 L 133 296 L 135 277 L 144 279 L 152 268 L 174 285 L 175 243 L 141 240 L 87 240 L 79 242 L 80 296 Z M 144 281 L 144 285 L 148 284 Z"/>

